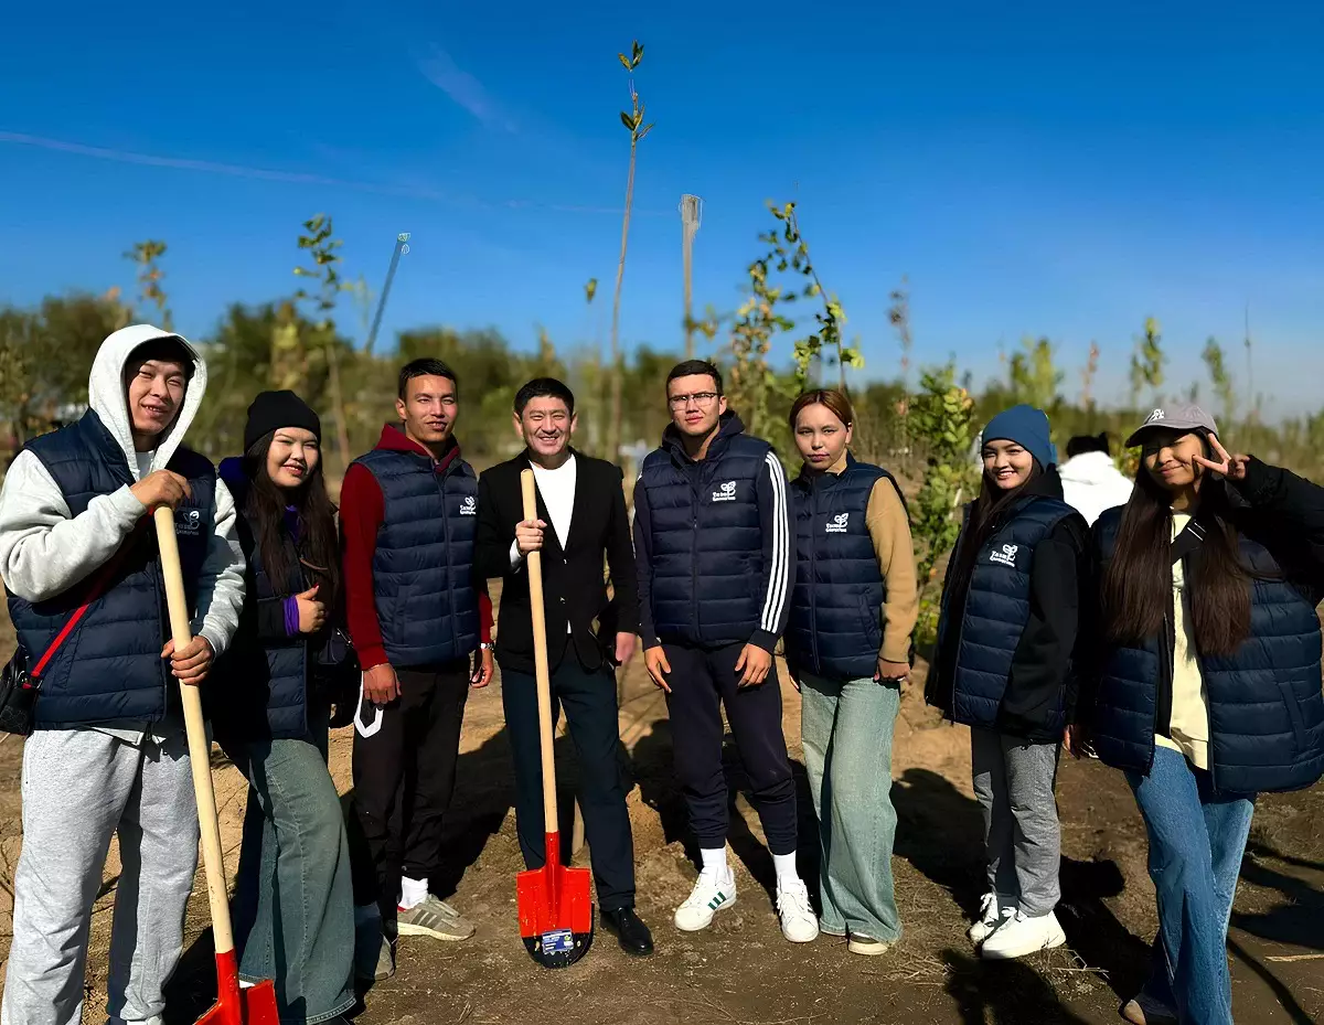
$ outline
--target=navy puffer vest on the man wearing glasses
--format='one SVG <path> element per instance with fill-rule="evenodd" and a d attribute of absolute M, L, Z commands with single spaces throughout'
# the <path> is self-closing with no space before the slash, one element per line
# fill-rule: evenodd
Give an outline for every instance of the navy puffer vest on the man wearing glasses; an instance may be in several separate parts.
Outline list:
<path fill-rule="evenodd" d="M 775 596 L 761 588 L 757 498 L 772 446 L 736 433 L 739 421 L 727 430 L 699 462 L 666 446 L 650 452 L 639 471 L 636 487 L 647 493 L 653 524 L 653 625 L 662 641 L 716 646 L 775 629 L 764 625 Z"/>

